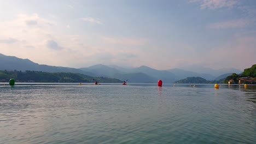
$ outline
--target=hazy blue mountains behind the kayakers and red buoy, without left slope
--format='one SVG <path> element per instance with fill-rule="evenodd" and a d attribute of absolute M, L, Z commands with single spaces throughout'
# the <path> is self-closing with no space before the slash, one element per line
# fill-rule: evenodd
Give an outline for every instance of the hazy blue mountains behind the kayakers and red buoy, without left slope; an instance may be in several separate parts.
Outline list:
<path fill-rule="evenodd" d="M 174 81 L 185 79 L 187 77 L 202 77 L 206 80 L 215 80 L 217 78 L 211 74 L 199 74 L 183 69 L 156 70 L 145 65 L 137 68 L 122 68 L 117 65 L 107 66 L 103 64 L 97 64 L 92 65 L 91 67 L 80 69 L 90 73 L 95 73 L 97 76 L 104 75 L 121 80 L 125 80 L 127 79 L 126 77 L 130 77 L 130 82 L 138 82 L 138 80 L 140 82 L 156 82 L 161 79 L 165 83 L 173 83 Z M 145 79 L 141 79 L 141 77 L 144 77 Z"/>

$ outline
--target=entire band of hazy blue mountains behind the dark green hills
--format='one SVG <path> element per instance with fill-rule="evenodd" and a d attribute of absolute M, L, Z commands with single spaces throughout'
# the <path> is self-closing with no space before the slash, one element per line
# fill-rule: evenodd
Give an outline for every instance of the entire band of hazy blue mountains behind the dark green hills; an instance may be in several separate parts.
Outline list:
<path fill-rule="evenodd" d="M 129 80 L 128 82 L 156 82 L 159 79 L 165 83 L 172 83 L 177 80 L 185 79 L 186 77 L 199 76 L 206 80 L 221 79 L 230 73 L 242 73 L 241 70 L 231 69 L 219 69 L 214 70 L 203 67 L 193 67 L 190 70 L 184 69 L 168 69 L 168 70 L 156 70 L 145 65 L 137 68 L 123 68 L 117 65 L 103 65 L 97 64 L 86 68 L 67 68 L 67 67 L 55 67 L 44 64 L 37 64 L 29 59 L 21 59 L 14 56 L 5 56 L 0 53 L 0 70 L 34 70 L 34 71 L 46 71 L 46 72 L 70 72 L 81 73 L 89 76 L 103 76 L 116 78 L 119 80 Z M 222 75 L 222 76 L 220 76 Z"/>

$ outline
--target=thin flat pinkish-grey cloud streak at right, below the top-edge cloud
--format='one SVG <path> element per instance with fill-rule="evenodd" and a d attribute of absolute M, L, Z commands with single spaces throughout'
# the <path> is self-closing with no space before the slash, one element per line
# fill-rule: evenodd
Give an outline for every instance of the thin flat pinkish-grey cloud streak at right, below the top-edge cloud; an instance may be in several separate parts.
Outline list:
<path fill-rule="evenodd" d="M 253 21 L 248 19 L 230 20 L 223 22 L 212 23 L 208 28 L 212 29 L 228 29 L 228 28 L 243 28 L 249 26 Z"/>

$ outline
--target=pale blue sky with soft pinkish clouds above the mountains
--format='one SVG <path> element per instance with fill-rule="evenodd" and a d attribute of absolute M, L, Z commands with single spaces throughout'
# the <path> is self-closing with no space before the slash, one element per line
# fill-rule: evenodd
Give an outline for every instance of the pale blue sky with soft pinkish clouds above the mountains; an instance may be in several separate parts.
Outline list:
<path fill-rule="evenodd" d="M 0 53 L 38 64 L 240 70 L 256 64 L 255 0 L 0 3 Z"/>

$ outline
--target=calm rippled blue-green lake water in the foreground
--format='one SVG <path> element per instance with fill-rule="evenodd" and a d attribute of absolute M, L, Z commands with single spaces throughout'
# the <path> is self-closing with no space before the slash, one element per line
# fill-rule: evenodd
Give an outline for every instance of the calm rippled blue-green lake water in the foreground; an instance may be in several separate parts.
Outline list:
<path fill-rule="evenodd" d="M 256 86 L 0 86 L 0 143 L 256 143 Z"/>

